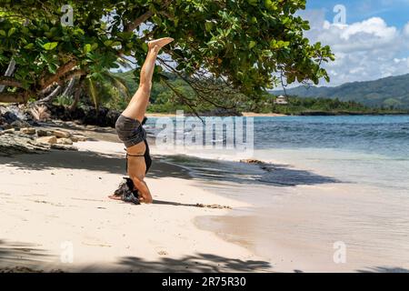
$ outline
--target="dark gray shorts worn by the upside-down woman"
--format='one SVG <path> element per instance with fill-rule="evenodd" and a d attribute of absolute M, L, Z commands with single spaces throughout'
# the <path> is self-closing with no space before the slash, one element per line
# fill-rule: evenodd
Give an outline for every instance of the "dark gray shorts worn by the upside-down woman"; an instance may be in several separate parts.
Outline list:
<path fill-rule="evenodd" d="M 146 132 L 136 119 L 119 115 L 115 123 L 116 133 L 126 147 L 135 146 L 146 139 Z"/>

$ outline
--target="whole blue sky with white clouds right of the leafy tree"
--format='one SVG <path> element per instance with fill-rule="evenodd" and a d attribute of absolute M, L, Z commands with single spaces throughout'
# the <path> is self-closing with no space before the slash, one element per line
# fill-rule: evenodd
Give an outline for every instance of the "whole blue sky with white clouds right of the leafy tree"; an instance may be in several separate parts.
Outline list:
<path fill-rule="evenodd" d="M 300 15 L 312 27 L 305 36 L 335 54 L 320 85 L 409 74 L 409 0 L 307 0 Z"/>

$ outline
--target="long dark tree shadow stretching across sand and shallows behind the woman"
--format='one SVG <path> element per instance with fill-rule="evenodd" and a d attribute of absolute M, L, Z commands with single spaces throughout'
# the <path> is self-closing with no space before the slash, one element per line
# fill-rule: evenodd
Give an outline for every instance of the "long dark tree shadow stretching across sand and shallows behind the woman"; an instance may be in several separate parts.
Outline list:
<path fill-rule="evenodd" d="M 45 155 L 21 155 L 1 158 L 3 164 L 19 169 L 41 171 L 52 168 L 85 169 L 125 175 L 125 155 L 107 155 L 92 151 L 53 151 Z M 185 167 L 184 167 L 185 166 Z M 187 170 L 186 168 L 189 168 Z M 286 165 L 250 165 L 240 162 L 201 159 L 193 156 L 154 156 L 150 178 L 193 178 L 204 182 L 233 182 L 247 185 L 299 186 L 339 183 L 329 176 Z"/>

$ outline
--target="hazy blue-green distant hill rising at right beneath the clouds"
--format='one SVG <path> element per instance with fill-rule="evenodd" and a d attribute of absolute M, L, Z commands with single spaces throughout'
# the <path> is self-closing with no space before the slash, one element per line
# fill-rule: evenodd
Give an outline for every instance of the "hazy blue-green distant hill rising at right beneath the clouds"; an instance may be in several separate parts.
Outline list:
<path fill-rule="evenodd" d="M 338 98 L 354 101 L 371 107 L 409 109 L 409 74 L 383 79 L 346 83 L 336 87 L 298 86 L 286 90 L 288 95 L 316 98 Z M 274 95 L 284 94 L 273 91 Z"/>

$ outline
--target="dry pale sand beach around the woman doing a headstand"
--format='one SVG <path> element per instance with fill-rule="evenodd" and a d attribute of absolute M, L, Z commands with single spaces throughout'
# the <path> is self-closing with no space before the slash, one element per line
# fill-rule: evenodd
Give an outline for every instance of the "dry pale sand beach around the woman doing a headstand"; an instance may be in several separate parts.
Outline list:
<path fill-rule="evenodd" d="M 197 186 L 155 158 L 147 178 L 155 203 L 110 200 L 124 175 L 123 145 L 76 144 L 78 152 L 0 157 L 0 269 L 157 272 L 271 270 L 242 246 L 195 226 L 196 216 L 244 207 Z"/>

